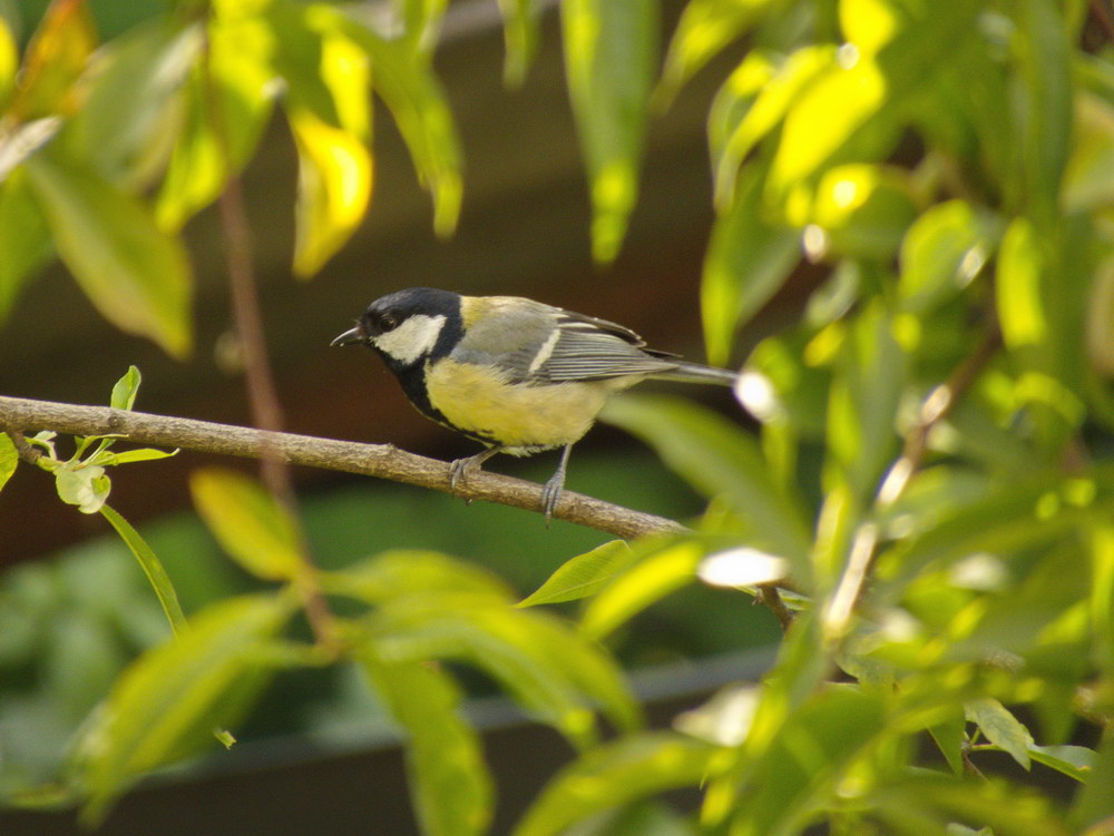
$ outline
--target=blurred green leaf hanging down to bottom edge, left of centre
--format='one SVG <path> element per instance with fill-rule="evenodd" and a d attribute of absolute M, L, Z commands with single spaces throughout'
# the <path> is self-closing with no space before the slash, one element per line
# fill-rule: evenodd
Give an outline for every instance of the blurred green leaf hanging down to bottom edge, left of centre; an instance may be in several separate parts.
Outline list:
<path fill-rule="evenodd" d="M 422 833 L 487 833 L 495 793 L 479 735 L 459 715 L 461 695 L 441 669 L 356 651 L 377 694 L 407 736 L 407 771 Z"/>

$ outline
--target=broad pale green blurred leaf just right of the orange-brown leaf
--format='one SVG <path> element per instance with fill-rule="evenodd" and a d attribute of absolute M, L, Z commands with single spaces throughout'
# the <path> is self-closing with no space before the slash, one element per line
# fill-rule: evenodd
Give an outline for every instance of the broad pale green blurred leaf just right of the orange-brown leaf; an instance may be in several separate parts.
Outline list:
<path fill-rule="evenodd" d="M 85 105 L 66 129 L 75 156 L 125 188 L 148 185 L 170 153 L 179 92 L 202 46 L 199 27 L 162 19 L 106 45 Z"/>

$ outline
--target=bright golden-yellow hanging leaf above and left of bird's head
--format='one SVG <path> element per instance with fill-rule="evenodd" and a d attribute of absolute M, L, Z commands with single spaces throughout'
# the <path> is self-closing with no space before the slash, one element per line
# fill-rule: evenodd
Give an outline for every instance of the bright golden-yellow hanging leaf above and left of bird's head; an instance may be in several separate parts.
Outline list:
<path fill-rule="evenodd" d="M 371 153 L 309 110 L 287 112 L 297 146 L 294 272 L 321 269 L 352 236 L 371 200 Z"/>

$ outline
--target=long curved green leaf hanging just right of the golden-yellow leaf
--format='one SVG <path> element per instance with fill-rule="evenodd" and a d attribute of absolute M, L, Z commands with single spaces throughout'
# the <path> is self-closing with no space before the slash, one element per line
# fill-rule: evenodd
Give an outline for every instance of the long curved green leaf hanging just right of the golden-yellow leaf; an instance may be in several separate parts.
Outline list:
<path fill-rule="evenodd" d="M 371 58 L 372 85 L 394 116 L 423 186 L 433 195 L 433 228 L 450 235 L 460 215 L 460 142 L 440 82 L 420 56 L 353 22 L 341 30 Z"/>

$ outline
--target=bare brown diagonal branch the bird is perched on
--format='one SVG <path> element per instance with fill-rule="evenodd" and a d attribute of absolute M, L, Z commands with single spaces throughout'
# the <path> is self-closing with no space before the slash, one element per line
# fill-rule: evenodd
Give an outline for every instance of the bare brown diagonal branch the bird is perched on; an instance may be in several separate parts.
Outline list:
<path fill-rule="evenodd" d="M 245 459 L 278 455 L 287 464 L 338 470 L 430 488 L 450 493 L 449 465 L 389 444 L 360 444 L 293 433 L 268 433 L 209 421 L 125 412 L 109 406 L 79 406 L 0 395 L 0 431 L 53 430 L 72 435 L 120 434 L 137 444 L 182 447 Z M 466 500 L 486 500 L 529 511 L 541 509 L 541 485 L 495 473 L 469 474 L 457 485 Z M 561 492 L 554 517 L 620 538 L 681 533 L 673 520 L 632 511 L 571 491 Z"/>

